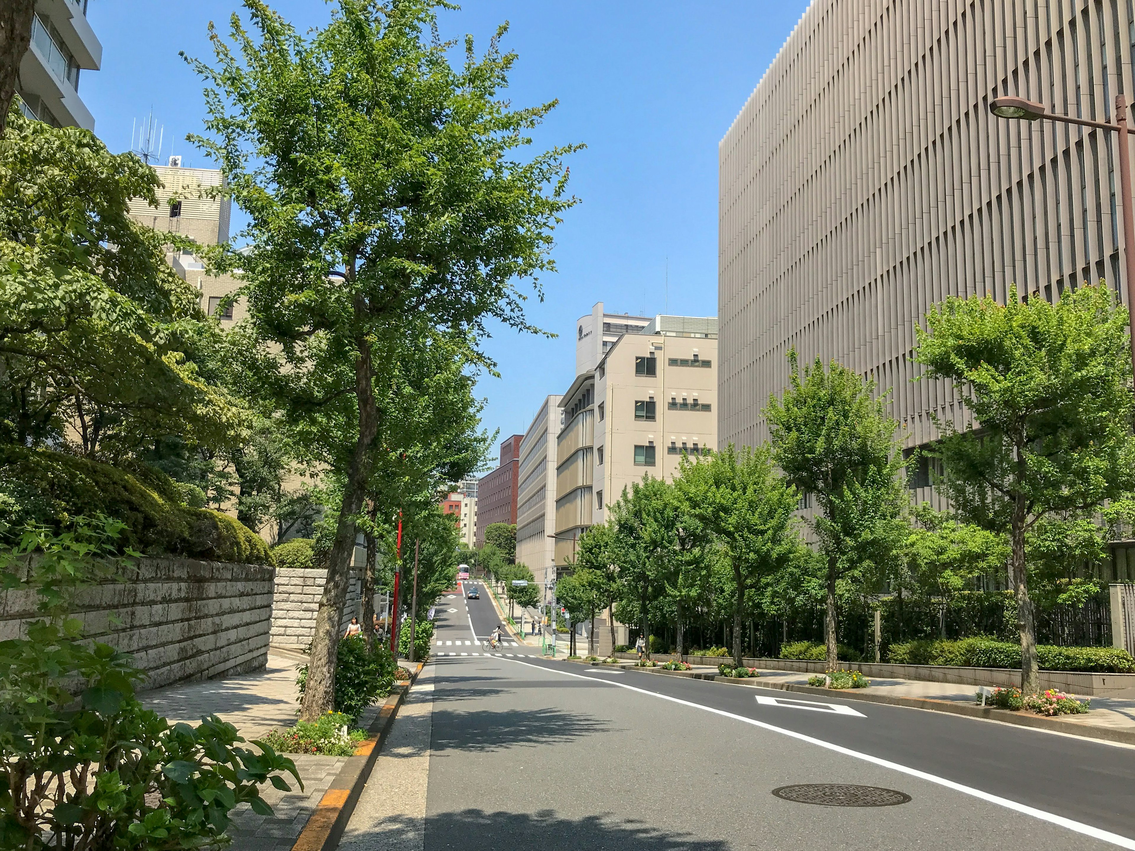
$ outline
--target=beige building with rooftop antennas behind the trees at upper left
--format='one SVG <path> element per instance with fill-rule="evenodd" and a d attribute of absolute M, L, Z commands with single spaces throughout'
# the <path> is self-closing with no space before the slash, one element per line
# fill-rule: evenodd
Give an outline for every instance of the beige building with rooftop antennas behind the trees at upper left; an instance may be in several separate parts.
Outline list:
<path fill-rule="evenodd" d="M 158 187 L 158 207 L 150 207 L 142 199 L 131 199 L 131 217 L 136 221 L 168 234 L 187 236 L 201 245 L 217 245 L 228 241 L 232 201 L 219 195 L 225 179 L 219 169 L 182 168 L 180 157 L 170 157 L 168 166 L 153 166 L 161 180 Z M 201 309 L 217 315 L 221 325 L 237 322 L 245 317 L 243 303 L 229 305 L 224 313 L 221 300 L 241 284 L 230 275 L 205 275 L 204 264 L 192 251 L 174 251 L 167 260 L 201 293 Z"/>

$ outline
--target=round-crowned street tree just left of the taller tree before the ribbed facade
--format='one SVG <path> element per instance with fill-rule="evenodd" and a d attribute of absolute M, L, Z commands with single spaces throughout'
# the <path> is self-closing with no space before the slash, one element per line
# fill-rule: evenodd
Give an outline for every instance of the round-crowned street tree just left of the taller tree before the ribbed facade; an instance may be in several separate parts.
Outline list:
<path fill-rule="evenodd" d="M 799 550 L 796 489 L 773 469 L 764 447 L 730 444 L 707 458 L 681 461 L 674 487 L 703 533 L 717 542 L 733 580 L 733 664 L 741 665 L 748 598 Z"/>

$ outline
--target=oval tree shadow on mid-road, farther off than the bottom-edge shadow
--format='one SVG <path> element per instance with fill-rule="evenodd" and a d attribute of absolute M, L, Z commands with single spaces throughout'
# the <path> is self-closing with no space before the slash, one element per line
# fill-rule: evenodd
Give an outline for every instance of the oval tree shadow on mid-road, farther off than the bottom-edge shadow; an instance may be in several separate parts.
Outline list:
<path fill-rule="evenodd" d="M 434 705 L 434 752 L 446 750 L 494 751 L 526 744 L 562 744 L 573 739 L 606 733 L 612 727 L 587 715 L 557 709 L 478 709 L 468 713 Z"/>

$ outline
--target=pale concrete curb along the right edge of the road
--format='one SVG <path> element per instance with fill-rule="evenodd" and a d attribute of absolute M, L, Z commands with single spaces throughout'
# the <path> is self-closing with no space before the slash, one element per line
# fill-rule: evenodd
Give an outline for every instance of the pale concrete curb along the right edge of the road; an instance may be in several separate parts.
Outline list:
<path fill-rule="evenodd" d="M 644 674 L 678 674 L 678 671 L 658 671 L 657 668 L 636 668 Z M 1135 731 L 1113 730 L 1111 727 L 1094 727 L 1086 724 L 1077 724 L 1061 718 L 1050 718 L 1044 715 L 1025 715 L 1010 709 L 994 709 L 969 703 L 960 703 L 956 700 L 933 700 L 931 698 L 896 698 L 886 694 L 864 694 L 852 689 L 817 688 L 815 685 L 798 685 L 796 683 L 771 683 L 767 680 L 762 682 L 762 677 L 730 677 L 720 674 L 701 674 L 684 672 L 687 677 L 693 680 L 708 680 L 723 683 L 725 685 L 740 685 L 747 689 L 779 689 L 780 691 L 794 691 L 802 694 L 823 694 L 826 697 L 838 697 L 841 700 L 863 700 L 868 703 L 883 703 L 886 706 L 905 706 L 910 709 L 926 709 L 933 713 L 948 713 L 950 715 L 961 715 L 967 718 L 983 718 L 985 721 L 998 721 L 1002 724 L 1016 724 L 1022 727 L 1034 730 L 1046 730 L 1066 735 L 1076 735 L 1083 739 L 1098 739 L 1104 742 L 1116 742 L 1119 744 L 1135 744 Z"/>

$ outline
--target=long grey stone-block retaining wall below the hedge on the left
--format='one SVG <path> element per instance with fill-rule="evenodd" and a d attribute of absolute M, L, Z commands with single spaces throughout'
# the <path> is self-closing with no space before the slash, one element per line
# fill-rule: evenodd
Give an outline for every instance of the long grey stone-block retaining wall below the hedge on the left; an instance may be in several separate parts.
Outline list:
<path fill-rule="evenodd" d="M 264 667 L 275 567 L 143 558 L 121 582 L 78 592 L 85 634 L 134 656 L 143 689 Z M 35 620 L 35 596 L 0 591 L 0 640 Z"/>

